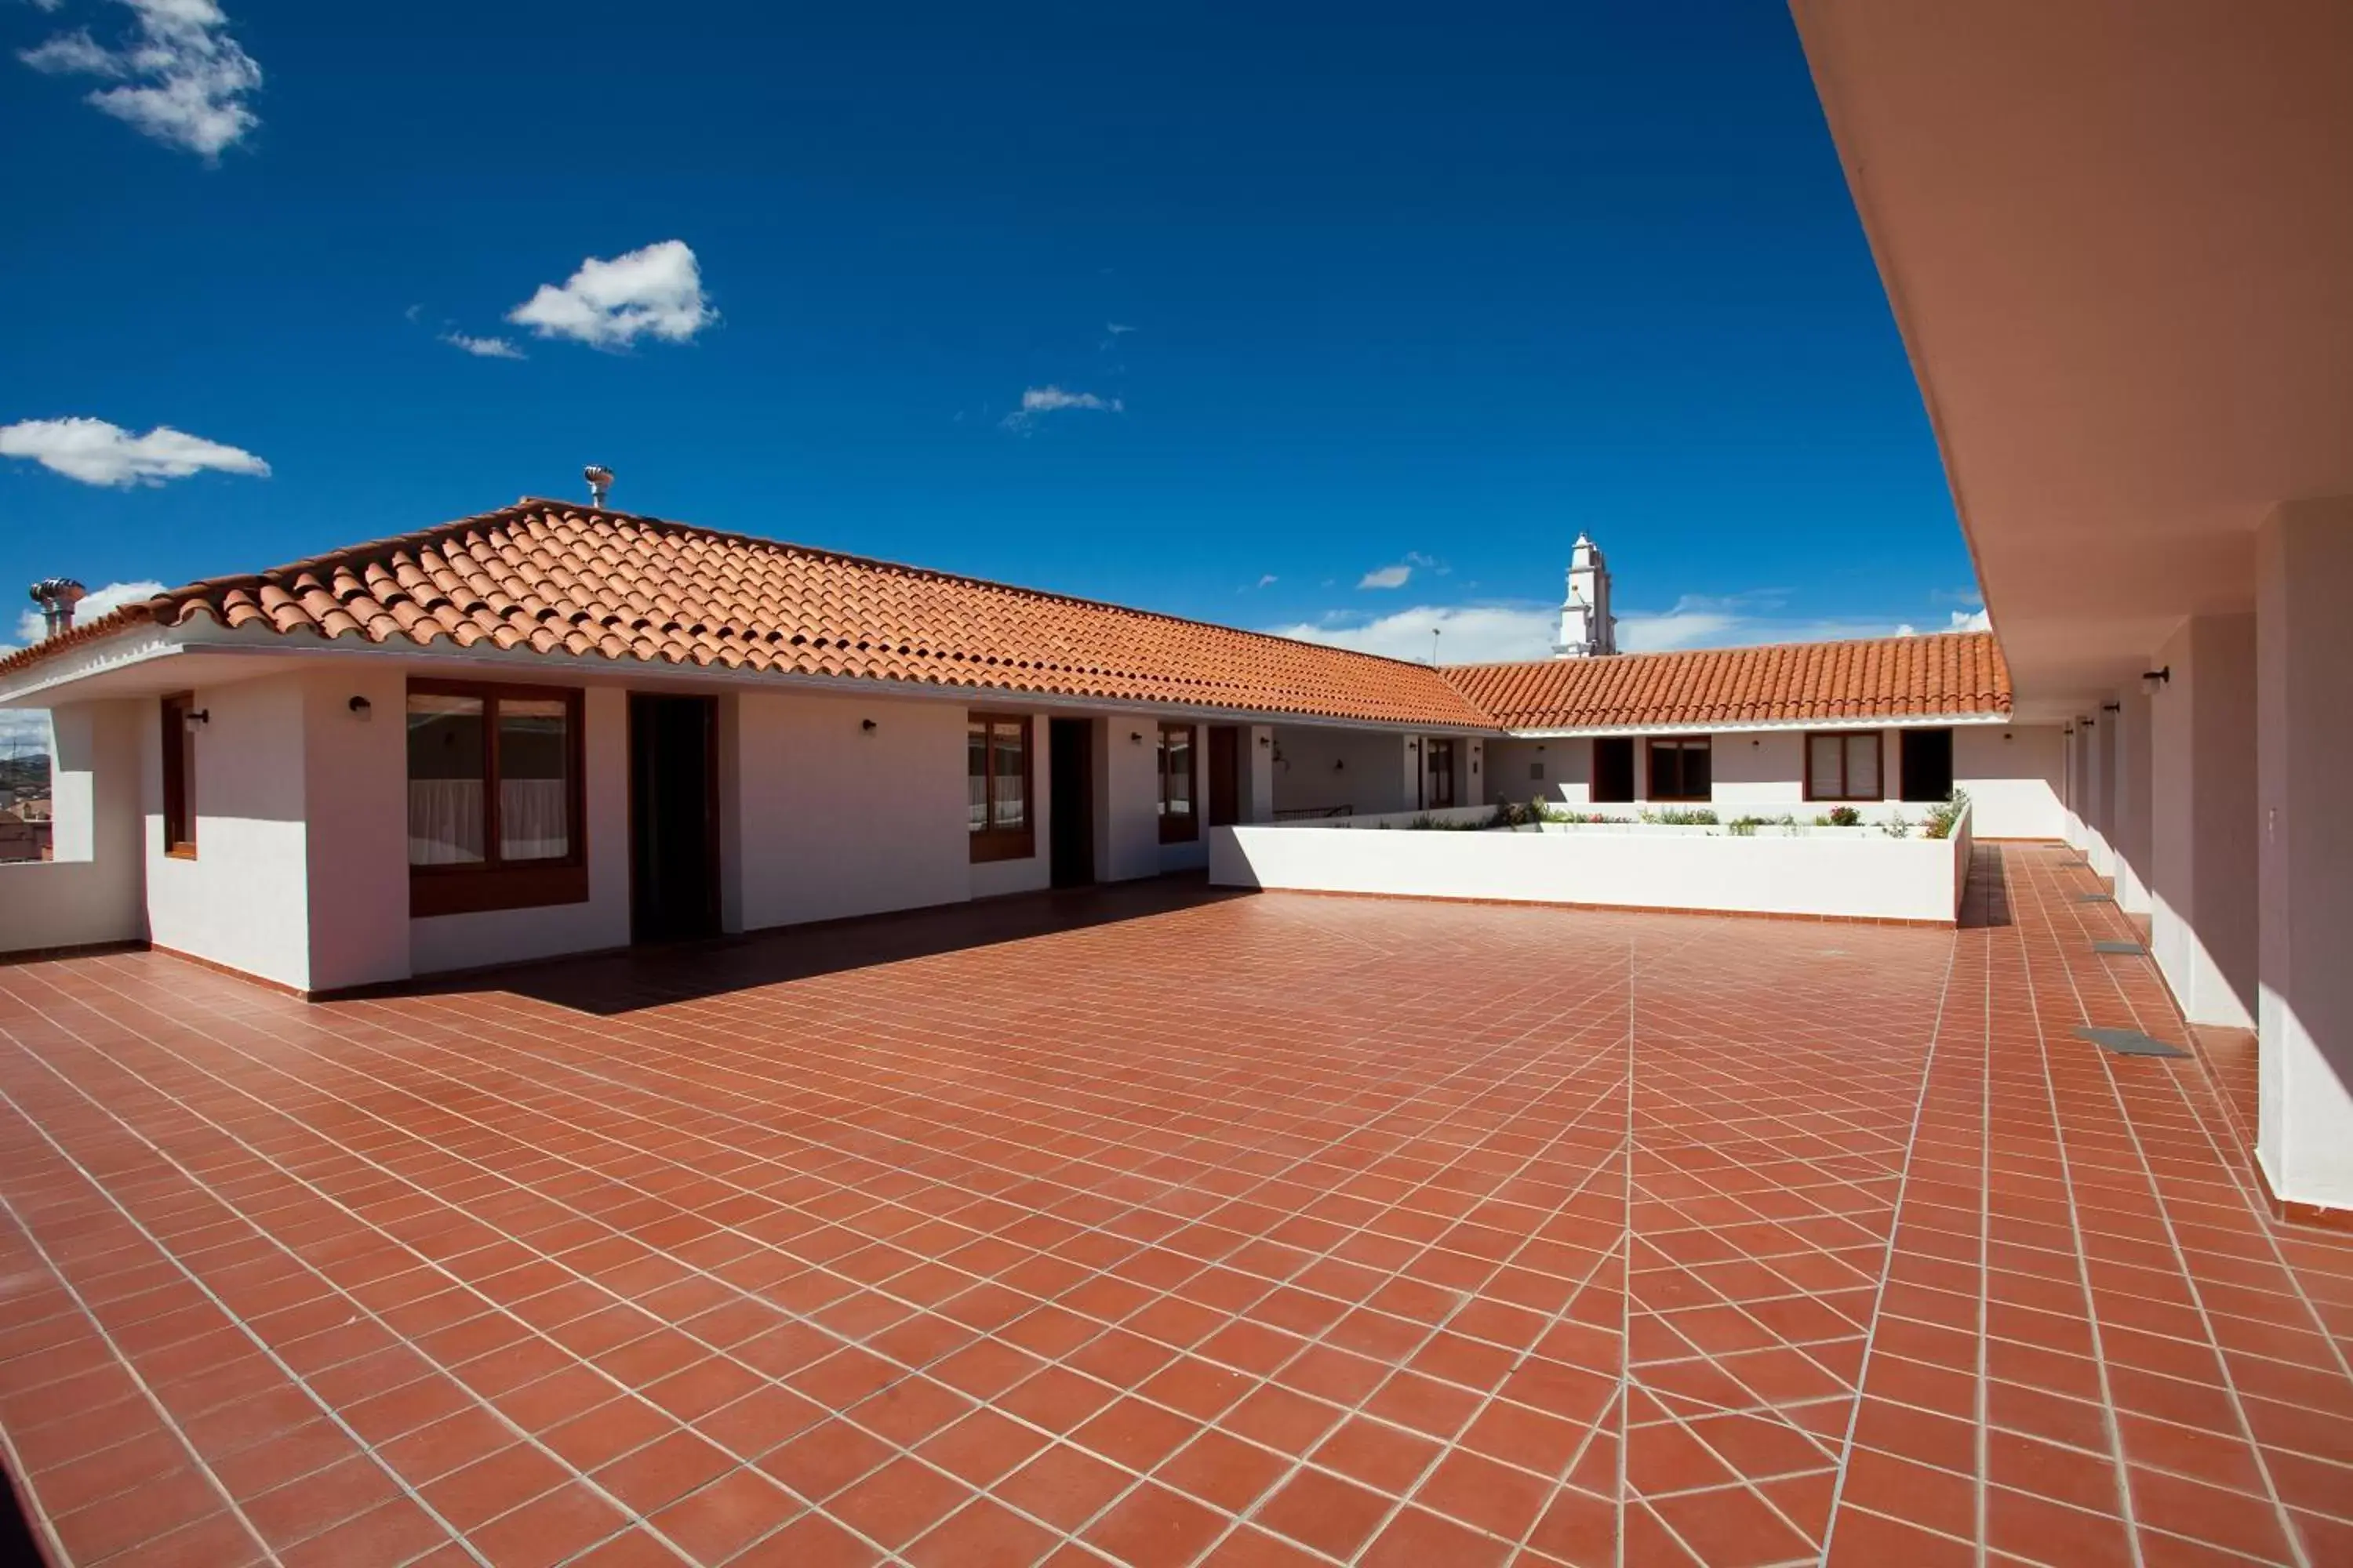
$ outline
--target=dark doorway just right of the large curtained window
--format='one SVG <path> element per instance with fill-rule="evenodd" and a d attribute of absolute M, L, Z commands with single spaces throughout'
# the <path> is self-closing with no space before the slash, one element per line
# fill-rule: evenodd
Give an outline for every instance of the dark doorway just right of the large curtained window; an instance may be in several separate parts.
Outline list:
<path fill-rule="evenodd" d="M 718 936 L 720 705 L 628 698 L 628 933 L 638 943 Z"/>

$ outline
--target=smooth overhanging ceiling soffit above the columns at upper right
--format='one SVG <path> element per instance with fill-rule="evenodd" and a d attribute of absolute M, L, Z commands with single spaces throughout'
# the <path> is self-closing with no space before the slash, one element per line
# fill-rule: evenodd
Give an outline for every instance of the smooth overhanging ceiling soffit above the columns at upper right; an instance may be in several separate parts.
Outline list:
<path fill-rule="evenodd" d="M 2021 703 L 2353 494 L 2353 0 L 1793 0 Z"/>

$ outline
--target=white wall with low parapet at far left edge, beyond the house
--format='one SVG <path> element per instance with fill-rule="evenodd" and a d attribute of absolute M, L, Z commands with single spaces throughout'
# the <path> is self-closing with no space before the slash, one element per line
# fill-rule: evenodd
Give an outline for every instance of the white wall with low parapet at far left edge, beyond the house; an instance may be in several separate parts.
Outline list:
<path fill-rule="evenodd" d="M 146 936 L 139 701 L 49 715 L 52 860 L 0 863 L 0 954 Z"/>

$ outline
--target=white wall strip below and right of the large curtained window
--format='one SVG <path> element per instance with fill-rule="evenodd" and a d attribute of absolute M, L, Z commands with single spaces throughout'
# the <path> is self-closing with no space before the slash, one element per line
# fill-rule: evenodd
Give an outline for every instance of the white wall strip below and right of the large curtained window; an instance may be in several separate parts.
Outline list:
<path fill-rule="evenodd" d="M 534 910 L 480 910 L 409 922 L 416 973 L 520 964 L 560 952 L 628 945 L 628 693 L 591 686 L 581 703 L 581 750 L 588 795 L 588 900 Z M 398 778 L 407 778 L 407 757 Z M 398 816 L 407 877 L 407 804 Z"/>

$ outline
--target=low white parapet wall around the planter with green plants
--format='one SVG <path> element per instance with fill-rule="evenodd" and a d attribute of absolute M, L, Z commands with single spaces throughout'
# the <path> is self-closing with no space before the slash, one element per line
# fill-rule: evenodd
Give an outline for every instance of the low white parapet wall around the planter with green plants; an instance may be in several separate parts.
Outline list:
<path fill-rule="evenodd" d="M 1480 898 L 1953 924 L 1969 818 L 1951 839 L 1878 830 L 1337 832 L 1217 827 L 1209 882 L 1238 889 Z"/>

